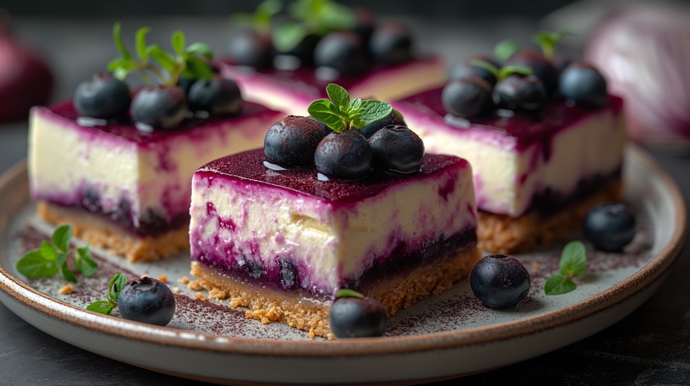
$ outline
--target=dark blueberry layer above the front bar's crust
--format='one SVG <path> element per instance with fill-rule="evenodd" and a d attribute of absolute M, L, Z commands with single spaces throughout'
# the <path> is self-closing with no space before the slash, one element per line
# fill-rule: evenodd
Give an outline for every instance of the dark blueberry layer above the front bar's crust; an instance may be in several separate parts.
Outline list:
<path fill-rule="evenodd" d="M 450 237 L 441 235 L 437 241 L 424 245 L 421 250 L 413 253 L 402 253 L 406 250 L 405 242 L 401 241 L 398 245 L 391 249 L 391 254 L 385 259 L 383 263 L 375 263 L 369 267 L 362 277 L 353 279 L 346 283 L 342 283 L 343 287 L 348 287 L 353 290 L 359 290 L 366 285 L 375 284 L 381 278 L 388 278 L 405 274 L 409 270 L 416 267 L 433 264 L 439 258 L 446 258 L 457 253 L 469 250 L 475 247 L 477 243 L 477 233 L 474 228 L 466 229 L 458 234 Z M 204 256 L 192 256 L 195 260 L 207 264 L 208 261 Z M 235 280 L 246 285 L 253 285 L 259 287 L 268 287 L 273 290 L 297 290 L 308 294 L 310 298 L 315 298 L 319 301 L 331 301 L 335 294 L 324 294 L 318 289 L 312 288 L 305 290 L 299 283 L 301 278 L 299 275 L 299 267 L 303 265 L 298 261 L 290 261 L 286 258 L 279 258 L 278 267 L 272 270 L 262 267 L 260 263 L 249 262 L 249 256 L 246 259 L 240 259 L 239 263 L 233 264 L 232 267 L 214 266 L 215 269 L 220 270 L 224 275 L 235 278 Z"/>

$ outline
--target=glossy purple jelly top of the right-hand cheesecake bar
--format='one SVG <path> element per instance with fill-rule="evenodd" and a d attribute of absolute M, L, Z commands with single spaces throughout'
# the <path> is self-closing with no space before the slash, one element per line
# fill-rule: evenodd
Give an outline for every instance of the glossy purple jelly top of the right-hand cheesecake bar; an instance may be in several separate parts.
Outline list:
<path fill-rule="evenodd" d="M 399 101 L 400 104 L 424 105 L 425 110 L 431 114 L 437 114 L 440 120 L 446 115 L 446 110 L 441 103 L 443 88 L 434 88 L 408 96 Z M 618 96 L 609 96 L 609 103 L 604 108 L 611 109 L 614 114 L 620 114 L 623 108 L 623 100 Z M 485 128 L 513 136 L 516 140 L 517 150 L 524 150 L 534 143 L 551 143 L 554 134 L 564 128 L 586 119 L 591 114 L 598 114 L 601 110 L 586 108 L 579 105 L 569 106 L 564 101 L 553 99 L 544 110 L 539 112 L 516 112 L 514 116 L 500 116 L 493 112 L 486 116 L 476 117 L 470 120 L 472 127 Z M 464 130 L 458 128 L 457 130 Z"/>

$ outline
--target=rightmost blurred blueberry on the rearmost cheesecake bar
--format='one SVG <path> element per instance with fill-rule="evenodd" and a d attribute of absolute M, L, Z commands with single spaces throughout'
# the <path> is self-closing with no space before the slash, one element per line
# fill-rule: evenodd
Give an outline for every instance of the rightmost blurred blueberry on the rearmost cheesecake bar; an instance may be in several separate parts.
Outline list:
<path fill-rule="evenodd" d="M 385 21 L 377 26 L 369 39 L 369 52 L 377 63 L 396 65 L 410 61 L 412 34 L 400 21 Z"/>

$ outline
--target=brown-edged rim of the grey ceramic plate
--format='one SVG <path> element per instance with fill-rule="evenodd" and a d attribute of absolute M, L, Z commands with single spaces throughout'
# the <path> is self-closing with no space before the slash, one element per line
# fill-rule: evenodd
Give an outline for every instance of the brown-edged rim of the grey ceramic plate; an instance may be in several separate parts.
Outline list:
<path fill-rule="evenodd" d="M 670 205 L 673 207 L 675 216 L 672 225 L 673 231 L 667 243 L 640 270 L 624 281 L 613 285 L 609 290 L 605 290 L 579 303 L 574 303 L 569 307 L 522 318 L 519 321 L 420 336 L 299 342 L 268 338 L 257 340 L 256 338 L 219 337 L 197 332 L 179 331 L 168 327 L 145 325 L 88 312 L 34 290 L 19 278 L 10 274 L 1 265 L 0 290 L 7 294 L 11 300 L 30 307 L 30 309 L 46 314 L 63 323 L 92 330 L 93 332 L 148 342 L 154 345 L 225 354 L 279 357 L 376 356 L 508 341 L 513 338 L 537 334 L 545 330 L 583 321 L 589 316 L 598 314 L 609 309 L 609 307 L 626 301 L 660 279 L 680 254 L 687 227 L 685 203 L 680 190 L 673 179 L 638 145 L 629 145 L 627 150 L 628 162 L 630 161 L 629 159 L 641 163 L 644 169 L 649 170 L 653 174 L 653 179 L 658 180 L 671 200 Z M 0 196 L 9 196 L 10 198 L 10 200 L 0 203 L 0 234 L 6 232 L 8 219 L 14 214 L 13 211 L 17 210 L 21 203 L 26 203 L 28 200 L 26 178 L 26 161 L 14 165 L 14 167 L 0 177 Z M 10 189 L 15 189 L 17 192 L 8 192 Z M 30 323 L 30 321 L 28 322 Z"/>

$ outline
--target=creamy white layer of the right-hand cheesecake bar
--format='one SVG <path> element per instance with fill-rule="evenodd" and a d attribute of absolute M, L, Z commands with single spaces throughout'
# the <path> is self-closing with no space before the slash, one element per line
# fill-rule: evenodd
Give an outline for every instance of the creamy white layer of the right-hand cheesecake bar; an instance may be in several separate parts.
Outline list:
<path fill-rule="evenodd" d="M 548 143 L 519 149 L 514 137 L 470 126 L 453 127 L 436 114 L 395 105 L 428 152 L 467 159 L 474 171 L 477 207 L 520 216 L 535 195 L 550 190 L 570 196 L 582 179 L 609 176 L 622 165 L 626 128 L 622 112 L 603 109 L 555 130 Z M 544 147 L 548 147 L 544 150 Z"/>

